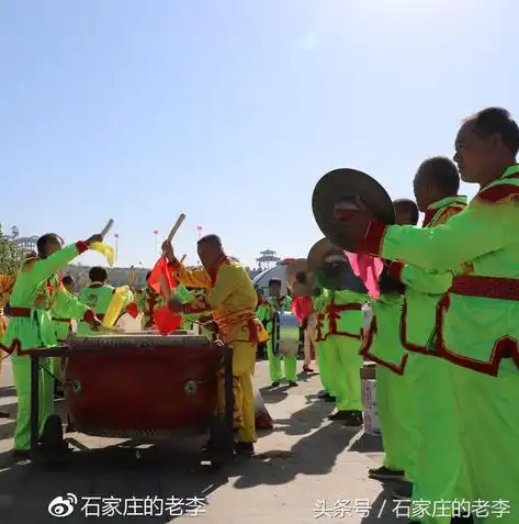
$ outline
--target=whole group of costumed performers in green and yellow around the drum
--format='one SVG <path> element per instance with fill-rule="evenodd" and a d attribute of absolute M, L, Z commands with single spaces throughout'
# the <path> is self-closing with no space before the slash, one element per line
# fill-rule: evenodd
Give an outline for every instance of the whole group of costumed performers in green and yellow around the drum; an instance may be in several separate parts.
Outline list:
<path fill-rule="evenodd" d="M 308 342 L 304 370 L 312 371 L 315 344 L 323 397 L 337 408 L 334 421 L 362 424 L 360 371 L 364 359 L 376 364 L 385 461 L 370 477 L 400 480 L 394 497 L 418 505 L 509 504 L 509 514 L 474 517 L 490 524 L 497 519 L 516 523 L 519 508 L 514 453 L 519 442 L 518 149 L 519 127 L 510 114 L 499 108 L 483 110 L 463 122 L 455 164 L 433 157 L 419 166 L 413 181 L 416 203 L 394 202 L 396 225 L 379 222 L 362 201 L 356 213 L 338 205 L 335 218 L 345 235 L 354 238 L 356 252 L 384 261 L 380 294 L 373 299 L 341 289 L 324 274 L 315 279 L 312 308 L 303 321 Z M 470 203 L 458 194 L 460 175 L 479 185 Z M 421 228 L 419 211 L 425 213 Z M 79 298 L 74 281 L 58 274 L 101 241 L 93 235 L 64 247 L 56 234 L 38 239 L 37 254 L 23 261 L 11 283 L 0 282 L 0 305 L 8 296 L 11 316 L 7 328 L 3 319 L 0 324 L 4 347 L 14 341 L 23 349 L 52 347 L 68 336 L 72 319 L 79 321 L 78 333 L 95 333 L 113 293 L 106 271 L 92 268 L 91 283 Z M 295 357 L 274 354 L 269 333 L 272 312 L 293 308 L 291 299 L 281 294 L 275 280 L 263 299 L 216 235 L 198 243 L 201 268 L 185 267 L 169 242 L 162 253 L 179 282 L 167 301 L 170 311 L 181 314 L 185 326 L 204 319 L 207 336 L 233 346 L 236 451 L 250 455 L 257 441 L 252 377 L 258 345 L 267 343 L 272 384 L 283 378 L 296 384 Z M 328 255 L 330 260 L 337 257 Z M 368 302 L 373 316 L 364 331 L 362 308 Z M 126 311 L 142 313 L 143 327 L 150 327 L 154 311 L 163 303 L 147 287 L 135 293 Z M 30 445 L 30 360 L 16 353 L 12 359 L 19 395 L 14 453 L 24 455 Z M 49 369 L 53 365 L 45 364 Z M 42 371 L 42 424 L 53 410 L 48 377 Z M 414 522 L 443 524 L 451 517 L 436 513 Z"/>

